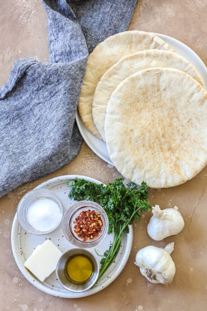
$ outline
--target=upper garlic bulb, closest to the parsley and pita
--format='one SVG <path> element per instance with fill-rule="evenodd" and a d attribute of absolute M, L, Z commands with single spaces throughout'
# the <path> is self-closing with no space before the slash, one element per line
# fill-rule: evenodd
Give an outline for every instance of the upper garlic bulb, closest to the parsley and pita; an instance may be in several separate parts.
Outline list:
<path fill-rule="evenodd" d="M 159 205 L 152 208 L 153 216 L 147 226 L 149 236 L 161 241 L 170 235 L 178 234 L 184 227 L 184 220 L 177 207 L 160 210 Z"/>

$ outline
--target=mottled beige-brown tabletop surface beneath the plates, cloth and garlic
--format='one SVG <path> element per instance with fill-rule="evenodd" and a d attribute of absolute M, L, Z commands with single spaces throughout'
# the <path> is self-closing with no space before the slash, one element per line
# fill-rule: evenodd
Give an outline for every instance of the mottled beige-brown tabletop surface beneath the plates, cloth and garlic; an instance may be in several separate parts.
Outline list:
<path fill-rule="evenodd" d="M 126 1 L 130 2 L 130 0 Z M 20 57 L 48 60 L 47 18 L 38 0 L 0 1 L 0 85 L 6 83 L 13 62 Z M 206 0 L 139 0 L 130 30 L 170 35 L 190 46 L 207 63 Z M 207 168 L 174 188 L 150 190 L 149 201 L 161 208 L 179 207 L 183 231 L 155 242 L 146 225 L 150 214 L 133 226 L 131 256 L 124 271 L 106 289 L 80 299 L 47 295 L 31 285 L 16 266 L 10 232 L 20 198 L 39 183 L 64 174 L 82 174 L 104 183 L 119 177 L 117 170 L 99 159 L 83 142 L 79 155 L 55 173 L 21 185 L 0 199 L 0 310 L 12 311 L 204 311 L 207 304 Z M 133 264 L 136 252 L 147 245 L 174 241 L 176 274 L 170 285 L 149 283 Z"/>

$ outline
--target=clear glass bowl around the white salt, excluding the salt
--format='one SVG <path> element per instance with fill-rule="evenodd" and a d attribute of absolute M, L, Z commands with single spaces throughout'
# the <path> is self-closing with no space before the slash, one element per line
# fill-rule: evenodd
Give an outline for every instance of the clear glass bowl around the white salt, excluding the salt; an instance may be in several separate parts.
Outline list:
<path fill-rule="evenodd" d="M 27 218 L 27 210 L 31 204 L 33 204 L 36 200 L 39 199 L 50 199 L 57 203 L 57 205 L 60 208 L 60 219 L 58 220 L 55 227 L 53 227 L 50 230 L 47 231 L 40 231 L 32 227 L 28 221 Z M 63 218 L 63 206 L 61 203 L 61 200 L 59 199 L 56 194 L 54 194 L 52 191 L 47 189 L 34 189 L 32 191 L 29 191 L 24 195 L 24 197 L 21 198 L 18 207 L 17 207 L 17 218 L 19 220 L 20 225 L 29 233 L 37 234 L 37 235 L 43 235 L 50 233 L 57 229 L 59 225 L 61 224 L 62 218 Z"/>

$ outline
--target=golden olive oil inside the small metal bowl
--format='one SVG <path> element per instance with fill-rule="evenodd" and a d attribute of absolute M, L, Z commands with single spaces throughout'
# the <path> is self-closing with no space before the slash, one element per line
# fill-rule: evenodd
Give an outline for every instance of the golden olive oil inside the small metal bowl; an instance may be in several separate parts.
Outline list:
<path fill-rule="evenodd" d="M 76 255 L 69 259 L 66 263 L 65 270 L 75 284 L 82 284 L 87 282 L 93 274 L 93 265 L 88 257 L 83 255 Z"/>

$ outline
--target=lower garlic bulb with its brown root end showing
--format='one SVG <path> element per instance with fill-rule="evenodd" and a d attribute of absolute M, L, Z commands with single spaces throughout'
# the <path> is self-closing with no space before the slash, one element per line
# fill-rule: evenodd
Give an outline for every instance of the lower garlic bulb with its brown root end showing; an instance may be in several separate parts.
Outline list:
<path fill-rule="evenodd" d="M 173 249 L 174 242 L 164 249 L 147 246 L 138 251 L 134 263 L 151 283 L 169 284 L 175 275 L 175 264 L 170 256 Z"/>

